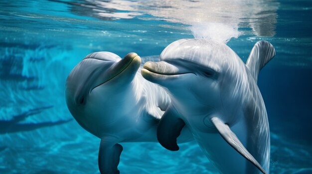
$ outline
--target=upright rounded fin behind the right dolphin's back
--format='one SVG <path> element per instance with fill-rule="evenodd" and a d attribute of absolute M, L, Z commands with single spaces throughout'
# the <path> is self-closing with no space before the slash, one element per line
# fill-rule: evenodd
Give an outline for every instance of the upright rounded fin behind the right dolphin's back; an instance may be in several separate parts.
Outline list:
<path fill-rule="evenodd" d="M 258 41 L 254 48 L 251 50 L 247 59 L 246 66 L 258 81 L 259 71 L 275 56 L 275 49 L 268 41 Z"/>

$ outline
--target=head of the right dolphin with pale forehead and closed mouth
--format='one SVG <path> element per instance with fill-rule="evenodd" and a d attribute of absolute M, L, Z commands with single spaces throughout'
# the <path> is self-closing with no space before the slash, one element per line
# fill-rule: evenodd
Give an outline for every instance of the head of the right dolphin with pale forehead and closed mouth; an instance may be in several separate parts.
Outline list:
<path fill-rule="evenodd" d="M 172 102 L 179 103 L 181 108 L 194 106 L 192 111 L 209 112 L 200 108 L 217 110 L 222 107 L 221 91 L 232 93 L 224 84 L 237 79 L 239 68 L 233 57 L 240 59 L 223 43 L 181 39 L 163 50 L 159 62 L 146 62 L 141 73 L 165 87 Z"/>

